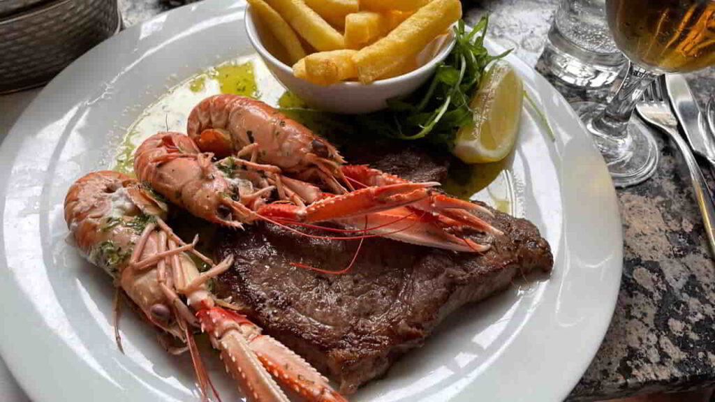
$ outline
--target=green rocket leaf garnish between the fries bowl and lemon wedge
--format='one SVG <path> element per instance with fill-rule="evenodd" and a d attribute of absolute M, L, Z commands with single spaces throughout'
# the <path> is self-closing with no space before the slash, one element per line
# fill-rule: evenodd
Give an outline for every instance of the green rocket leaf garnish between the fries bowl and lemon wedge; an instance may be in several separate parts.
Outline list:
<path fill-rule="evenodd" d="M 511 52 L 489 54 L 483 43 L 487 25 L 486 16 L 471 31 L 465 29 L 463 20 L 458 21 L 454 28 L 455 46 L 447 59 L 438 64 L 430 82 L 408 97 L 390 99 L 388 109 L 357 117 L 305 107 L 280 110 L 310 129 L 320 129 L 318 134 L 332 142 L 340 142 L 340 135 L 335 134 L 359 132 L 394 139 L 423 139 L 452 147 L 457 130 L 473 123 L 470 102 L 479 89 L 485 68 Z"/>

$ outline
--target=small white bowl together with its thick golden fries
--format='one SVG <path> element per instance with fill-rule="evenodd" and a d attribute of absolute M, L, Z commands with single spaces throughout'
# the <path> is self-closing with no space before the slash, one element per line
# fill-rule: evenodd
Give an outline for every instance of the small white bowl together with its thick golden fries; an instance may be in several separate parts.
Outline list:
<path fill-rule="evenodd" d="M 362 114 L 418 89 L 454 46 L 459 0 L 248 0 L 268 69 L 312 107 Z"/>

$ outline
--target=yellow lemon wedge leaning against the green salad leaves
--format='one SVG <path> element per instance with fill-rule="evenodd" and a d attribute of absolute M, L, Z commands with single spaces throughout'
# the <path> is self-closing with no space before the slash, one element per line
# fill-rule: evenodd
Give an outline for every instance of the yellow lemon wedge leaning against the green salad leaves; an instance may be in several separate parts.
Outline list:
<path fill-rule="evenodd" d="M 511 64 L 494 62 L 470 103 L 473 124 L 459 129 L 452 153 L 466 163 L 503 160 L 516 143 L 522 99 L 523 84 Z"/>

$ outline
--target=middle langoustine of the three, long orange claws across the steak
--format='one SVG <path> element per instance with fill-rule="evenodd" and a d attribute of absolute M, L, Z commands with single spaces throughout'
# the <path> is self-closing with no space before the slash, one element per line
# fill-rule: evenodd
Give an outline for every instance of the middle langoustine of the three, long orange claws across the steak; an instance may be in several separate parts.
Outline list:
<path fill-rule="evenodd" d="M 450 234 L 435 225 L 437 219 L 432 215 L 398 209 L 430 197 L 429 188 L 437 184 L 434 182 L 368 186 L 335 195 L 283 172 L 246 165 L 238 157 L 215 163 L 211 160 L 212 155 L 201 152 L 187 135 L 160 132 L 137 148 L 134 172 L 169 201 L 220 225 L 242 227 L 255 220 L 298 224 L 330 220 L 356 227 L 355 232 L 455 251 L 483 251 L 488 247 Z M 284 187 L 282 195 L 278 183 Z M 277 200 L 272 199 L 273 190 L 278 193 Z"/>

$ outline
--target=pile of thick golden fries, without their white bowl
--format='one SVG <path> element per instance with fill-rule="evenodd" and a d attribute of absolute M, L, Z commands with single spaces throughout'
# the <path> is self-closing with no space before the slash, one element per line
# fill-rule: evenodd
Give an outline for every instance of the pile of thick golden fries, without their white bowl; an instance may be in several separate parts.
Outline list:
<path fill-rule="evenodd" d="M 462 16 L 459 0 L 247 1 L 273 36 L 269 51 L 283 54 L 296 77 L 320 85 L 410 72 L 425 46 Z"/>

